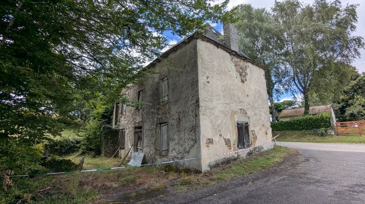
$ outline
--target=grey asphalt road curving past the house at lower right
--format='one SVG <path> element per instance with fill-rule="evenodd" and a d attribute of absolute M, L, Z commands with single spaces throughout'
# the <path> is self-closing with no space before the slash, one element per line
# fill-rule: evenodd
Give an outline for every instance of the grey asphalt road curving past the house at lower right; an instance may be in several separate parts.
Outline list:
<path fill-rule="evenodd" d="M 156 203 L 365 203 L 365 145 L 281 142 L 299 154 L 269 170 Z"/>

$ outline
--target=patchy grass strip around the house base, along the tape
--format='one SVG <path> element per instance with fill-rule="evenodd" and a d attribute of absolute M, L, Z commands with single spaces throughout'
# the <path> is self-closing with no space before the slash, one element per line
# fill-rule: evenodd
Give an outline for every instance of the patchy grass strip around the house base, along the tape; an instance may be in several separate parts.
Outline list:
<path fill-rule="evenodd" d="M 189 170 L 168 172 L 167 169 L 171 168 L 166 166 L 146 166 L 24 179 L 39 183 L 37 189 L 31 193 L 32 200 L 37 203 L 90 203 L 117 192 L 123 193 L 132 202 L 167 187 L 171 187 L 175 193 L 180 193 L 217 181 L 246 176 L 257 170 L 272 167 L 292 153 L 295 151 L 289 148 L 275 147 L 268 152 L 239 159 L 206 173 L 194 173 Z M 70 155 L 65 158 L 78 163 L 80 157 Z M 84 169 L 115 167 L 120 161 L 120 158 L 85 157 Z"/>

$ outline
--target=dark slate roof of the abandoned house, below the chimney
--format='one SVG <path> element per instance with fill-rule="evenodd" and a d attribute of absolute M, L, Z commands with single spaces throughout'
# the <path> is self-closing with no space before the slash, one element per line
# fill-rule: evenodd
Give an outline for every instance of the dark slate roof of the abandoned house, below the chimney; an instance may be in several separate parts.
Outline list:
<path fill-rule="evenodd" d="M 214 29 L 210 25 L 207 25 L 204 31 L 195 31 L 193 34 L 191 34 L 187 38 L 181 40 L 180 42 L 178 42 L 177 44 L 175 44 L 174 46 L 172 46 L 170 49 L 168 49 L 167 51 L 165 51 L 164 53 L 162 53 L 162 55 L 160 57 L 161 58 L 167 57 L 169 53 L 171 53 L 172 51 L 175 51 L 176 49 L 178 49 L 180 46 L 182 46 L 183 44 L 187 43 L 191 39 L 199 38 L 201 36 L 204 37 L 205 39 L 208 39 L 208 41 L 210 41 L 210 42 L 212 42 L 212 43 L 214 43 L 216 45 L 219 45 L 221 48 L 223 48 L 224 50 L 226 50 L 228 52 L 234 52 L 234 53 L 236 53 L 237 56 L 242 57 L 245 60 L 247 60 L 247 61 L 255 64 L 257 67 L 266 69 L 265 67 L 263 67 L 263 66 L 259 65 L 258 63 L 256 63 L 254 60 L 250 59 L 242 51 L 240 51 L 240 50 L 239 51 L 234 51 L 234 50 L 229 49 L 226 45 L 224 45 L 223 35 L 220 34 L 219 31 L 217 31 L 216 29 Z M 160 61 L 160 59 L 159 58 L 156 58 L 155 60 L 153 60 L 146 67 L 152 67 L 154 64 L 156 64 L 159 61 Z"/>

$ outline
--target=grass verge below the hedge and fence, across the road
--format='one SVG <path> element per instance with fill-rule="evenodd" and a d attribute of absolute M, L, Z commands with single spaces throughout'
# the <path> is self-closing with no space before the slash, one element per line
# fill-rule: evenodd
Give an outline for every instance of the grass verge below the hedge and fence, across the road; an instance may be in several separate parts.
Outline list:
<path fill-rule="evenodd" d="M 280 134 L 278 141 L 289 142 L 328 142 L 328 143 L 356 143 L 365 144 L 365 136 L 347 135 L 347 136 L 316 136 L 308 131 L 275 131 L 273 135 Z"/>

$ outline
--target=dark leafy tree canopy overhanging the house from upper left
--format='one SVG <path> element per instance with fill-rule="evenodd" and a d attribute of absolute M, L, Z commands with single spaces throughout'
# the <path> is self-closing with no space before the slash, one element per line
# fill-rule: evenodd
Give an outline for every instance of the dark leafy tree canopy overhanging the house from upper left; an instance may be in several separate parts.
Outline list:
<path fill-rule="evenodd" d="M 117 95 L 164 47 L 224 16 L 227 1 L 3 0 L 0 138 L 57 135 L 80 100 Z"/>

